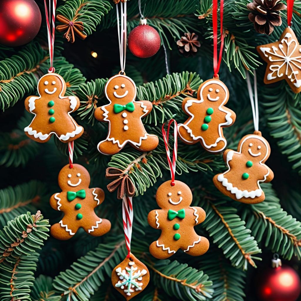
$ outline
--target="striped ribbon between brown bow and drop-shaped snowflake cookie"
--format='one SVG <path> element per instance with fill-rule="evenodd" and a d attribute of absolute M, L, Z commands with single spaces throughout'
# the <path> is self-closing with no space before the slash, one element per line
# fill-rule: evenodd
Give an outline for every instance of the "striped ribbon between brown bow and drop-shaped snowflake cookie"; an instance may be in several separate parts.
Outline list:
<path fill-rule="evenodd" d="M 122 199 L 122 219 L 123 219 L 123 231 L 126 239 L 126 248 L 128 250 L 129 258 L 131 252 L 131 240 L 132 240 L 132 225 L 133 225 L 133 203 L 132 197 L 124 196 Z"/>

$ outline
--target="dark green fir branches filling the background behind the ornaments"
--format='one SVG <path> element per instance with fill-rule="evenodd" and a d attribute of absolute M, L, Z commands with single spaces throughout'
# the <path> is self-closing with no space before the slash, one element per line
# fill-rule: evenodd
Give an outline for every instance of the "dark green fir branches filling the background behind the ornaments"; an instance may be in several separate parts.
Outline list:
<path fill-rule="evenodd" d="M 160 33 L 162 46 L 149 59 L 138 59 L 127 52 L 126 74 L 134 79 L 137 99 L 149 100 L 154 108 L 144 118 L 146 129 L 160 138 L 156 150 L 141 154 L 131 147 L 112 157 L 97 150 L 107 135 L 107 124 L 97 122 L 95 107 L 107 103 L 104 85 L 119 71 L 116 11 L 106 0 L 58 1 L 57 14 L 72 18 L 78 8 L 88 37 L 67 43 L 56 32 L 54 67 L 67 82 L 69 95 L 77 95 L 81 107 L 74 117 L 85 128 L 75 141 L 74 162 L 84 165 L 91 175 L 90 187 L 101 187 L 106 197 L 97 209 L 99 216 L 112 222 L 103 237 L 84 231 L 69 241 L 48 235 L 49 224 L 61 219 L 51 209 L 49 197 L 59 191 L 57 175 L 67 164 L 67 144 L 56 138 L 36 143 L 23 128 L 32 116 L 23 100 L 36 94 L 40 76 L 49 67 L 43 1 L 42 26 L 27 45 L 11 48 L 0 45 L 0 300 L 121 300 L 110 283 L 112 268 L 126 255 L 121 223 L 121 201 L 110 194 L 105 169 L 131 166 L 135 183 L 132 252 L 149 268 L 151 281 L 135 301 L 214 300 L 254 301 L 256 267 L 270 266 L 277 252 L 298 269 L 301 259 L 301 97 L 282 81 L 263 84 L 262 65 L 255 47 L 278 40 L 286 27 L 286 11 L 281 11 L 282 26 L 271 36 L 260 35 L 248 20 L 249 0 L 227 0 L 224 8 L 225 51 L 219 72 L 230 91 L 227 104 L 237 114 L 236 122 L 224 130 L 228 148 L 236 149 L 240 138 L 253 132 L 252 112 L 245 81 L 247 70 L 258 77 L 260 124 L 272 154 L 267 165 L 275 178 L 262 184 L 266 199 L 247 205 L 230 200 L 213 185 L 212 178 L 225 170 L 222 154 L 211 154 L 200 144 L 186 146 L 178 141 L 176 178 L 187 183 L 194 194 L 193 204 L 206 211 L 206 220 L 196 231 L 210 240 L 209 251 L 191 257 L 178 251 L 170 260 L 157 260 L 148 251 L 159 232 L 147 223 L 147 214 L 157 208 L 157 187 L 169 179 L 161 125 L 171 117 L 183 122 L 181 102 L 197 91 L 203 80 L 213 75 L 212 0 L 141 0 L 148 23 Z M 86 5 L 83 5 L 87 2 Z M 135 0 L 128 1 L 128 32 L 138 25 Z M 293 30 L 301 40 L 301 2 L 296 1 Z M 79 20 L 79 19 L 78 19 Z M 194 57 L 182 57 L 176 40 L 185 32 L 199 36 L 201 47 Z M 170 74 L 166 74 L 166 48 Z M 97 58 L 91 56 L 97 52 Z M 37 211 L 40 210 L 42 215 Z M 35 225 L 32 231 L 28 225 Z M 24 232 L 26 232 L 26 235 Z M 24 237 L 25 236 L 25 237 Z M 23 240 L 23 241 L 22 241 Z M 12 250 L 8 247 L 14 244 Z"/>

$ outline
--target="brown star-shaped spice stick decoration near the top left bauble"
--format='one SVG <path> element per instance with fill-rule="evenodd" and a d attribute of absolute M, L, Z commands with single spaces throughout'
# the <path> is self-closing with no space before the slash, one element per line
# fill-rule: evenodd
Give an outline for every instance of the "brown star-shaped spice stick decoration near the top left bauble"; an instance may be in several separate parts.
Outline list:
<path fill-rule="evenodd" d="M 73 20 L 69 20 L 68 18 L 62 15 L 57 15 L 57 20 L 64 24 L 57 25 L 57 31 L 61 33 L 67 30 L 67 32 L 64 33 L 64 38 L 66 38 L 68 42 L 71 38 L 71 43 L 74 43 L 75 41 L 74 33 L 82 40 L 84 40 L 87 37 L 87 35 L 82 33 L 82 31 L 84 30 L 84 23 L 82 23 L 81 21 L 76 21 L 76 17 L 74 17 Z"/>

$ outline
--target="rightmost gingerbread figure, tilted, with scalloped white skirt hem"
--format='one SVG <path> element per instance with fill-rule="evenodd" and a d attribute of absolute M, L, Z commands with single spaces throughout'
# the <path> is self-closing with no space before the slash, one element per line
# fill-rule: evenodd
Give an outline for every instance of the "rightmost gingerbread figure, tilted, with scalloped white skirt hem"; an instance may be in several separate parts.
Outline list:
<path fill-rule="evenodd" d="M 223 155 L 228 170 L 215 175 L 214 185 L 233 200 L 255 204 L 264 201 L 259 183 L 270 182 L 274 173 L 264 163 L 270 156 L 270 145 L 261 132 L 244 136 L 237 151 L 226 150 Z"/>

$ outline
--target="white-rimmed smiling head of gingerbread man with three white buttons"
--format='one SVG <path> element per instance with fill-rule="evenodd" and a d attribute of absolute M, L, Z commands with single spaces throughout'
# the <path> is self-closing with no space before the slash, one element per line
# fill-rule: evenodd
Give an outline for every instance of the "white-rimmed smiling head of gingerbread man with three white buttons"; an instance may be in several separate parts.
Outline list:
<path fill-rule="evenodd" d="M 126 104 L 136 98 L 136 85 L 128 76 L 117 74 L 108 80 L 105 94 L 112 103 Z"/>

